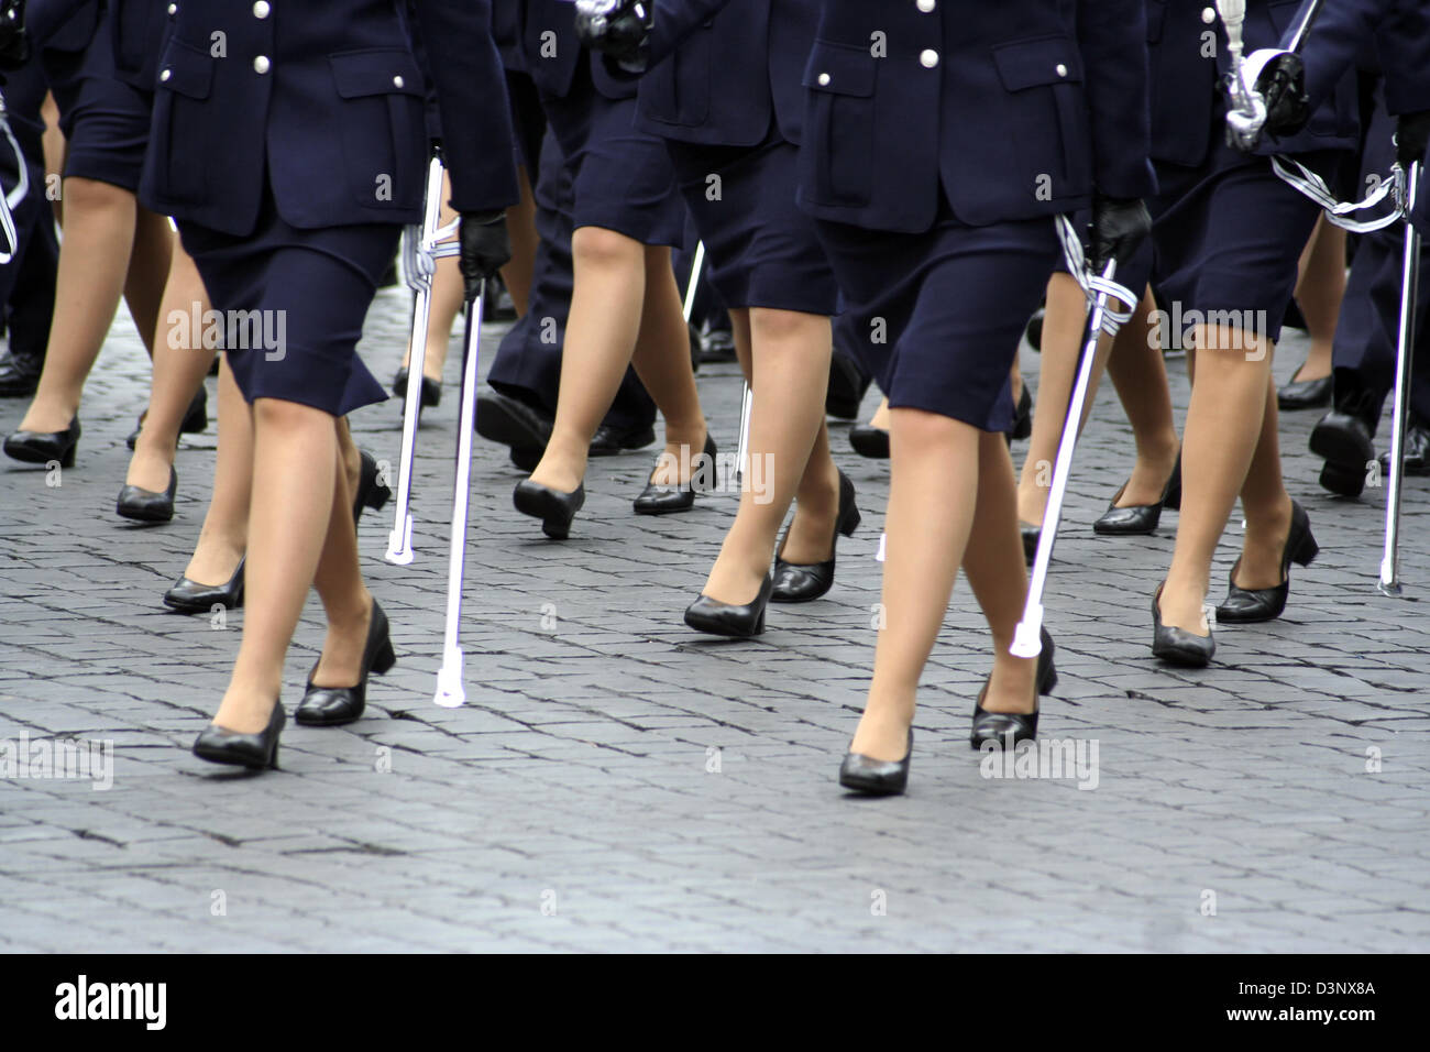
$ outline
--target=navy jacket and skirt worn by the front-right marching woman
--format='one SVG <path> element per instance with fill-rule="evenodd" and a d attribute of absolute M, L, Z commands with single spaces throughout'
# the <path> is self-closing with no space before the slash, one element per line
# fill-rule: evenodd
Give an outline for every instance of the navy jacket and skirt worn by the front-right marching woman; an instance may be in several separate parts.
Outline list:
<path fill-rule="evenodd" d="M 1005 431 L 1052 216 L 1151 192 L 1140 0 L 825 0 L 799 202 L 892 406 Z"/>

